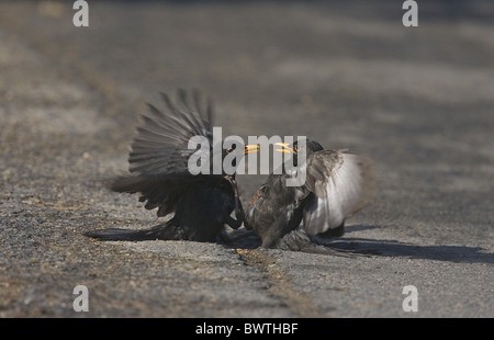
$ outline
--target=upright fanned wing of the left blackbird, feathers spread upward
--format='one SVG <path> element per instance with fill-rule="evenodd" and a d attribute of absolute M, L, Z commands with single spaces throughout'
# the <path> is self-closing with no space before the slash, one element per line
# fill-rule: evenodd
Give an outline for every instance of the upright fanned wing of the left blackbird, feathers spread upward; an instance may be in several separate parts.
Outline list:
<path fill-rule="evenodd" d="M 161 97 L 166 110 L 148 104 L 132 140 L 128 171 L 134 175 L 188 172 L 189 157 L 195 152 L 188 149 L 193 136 L 207 138 L 212 147 L 211 102 L 203 107 L 198 92 L 190 99 L 184 90 L 178 91 L 176 103 L 165 93 Z"/>

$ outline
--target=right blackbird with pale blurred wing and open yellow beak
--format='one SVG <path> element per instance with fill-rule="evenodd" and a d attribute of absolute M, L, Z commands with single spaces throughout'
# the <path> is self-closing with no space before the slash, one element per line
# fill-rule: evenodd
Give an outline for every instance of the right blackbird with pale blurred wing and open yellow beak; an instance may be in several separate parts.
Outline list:
<path fill-rule="evenodd" d="M 347 150 L 324 150 L 306 140 L 306 161 L 299 159 L 299 143 L 279 143 L 281 152 L 293 154 L 293 165 L 305 171 L 305 182 L 287 186 L 295 174 L 283 163 L 281 174 L 271 173 L 250 201 L 244 225 L 262 240 L 262 248 L 316 249 L 321 238 L 344 234 L 345 219 L 371 199 L 373 175 L 370 160 Z M 290 160 L 288 160 L 290 161 Z M 301 222 L 303 220 L 303 225 Z M 321 247 L 317 247 L 321 249 Z M 337 253 L 337 251 L 329 251 Z"/>

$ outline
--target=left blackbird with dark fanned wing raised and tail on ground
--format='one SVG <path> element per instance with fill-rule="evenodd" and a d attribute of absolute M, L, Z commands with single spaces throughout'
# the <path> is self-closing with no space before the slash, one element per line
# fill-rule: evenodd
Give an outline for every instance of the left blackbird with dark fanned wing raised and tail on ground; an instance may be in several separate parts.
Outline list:
<path fill-rule="evenodd" d="M 109 188 L 121 193 L 138 192 L 146 209 L 158 208 L 158 216 L 175 213 L 173 217 L 150 229 L 110 228 L 86 236 L 101 240 L 215 241 L 225 225 L 235 229 L 242 225 L 244 211 L 235 173 L 193 175 L 188 169 L 189 158 L 197 151 L 188 148 L 192 136 L 206 138 L 210 149 L 205 156 L 212 165 L 211 102 L 207 100 L 203 107 L 197 91 L 189 95 L 179 90 L 175 103 L 167 94 L 161 97 L 167 110 L 148 104 L 148 113 L 142 115 L 131 144 L 130 173 L 111 180 Z M 222 158 L 235 149 L 221 148 Z M 236 219 L 231 216 L 233 211 Z"/>

